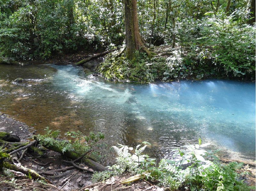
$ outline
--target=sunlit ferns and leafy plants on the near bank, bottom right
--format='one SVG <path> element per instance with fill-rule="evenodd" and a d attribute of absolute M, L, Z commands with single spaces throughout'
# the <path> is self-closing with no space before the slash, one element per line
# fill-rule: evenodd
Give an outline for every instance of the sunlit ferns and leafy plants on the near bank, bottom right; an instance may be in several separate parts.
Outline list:
<path fill-rule="evenodd" d="M 255 187 L 248 187 L 244 180 L 239 180 L 237 173 L 243 167 L 243 163 L 231 162 L 227 165 L 220 164 L 218 160 L 208 160 L 207 151 L 202 148 L 209 143 L 187 145 L 185 150 L 175 149 L 172 160 L 161 159 L 156 165 L 155 159 L 143 154 L 144 149 L 149 144 L 147 142 L 141 147 L 133 148 L 119 144 L 114 146 L 117 153 L 116 165 L 109 167 L 113 171 L 95 173 L 94 181 L 108 179 L 110 175 L 120 175 L 125 172 L 133 174 L 144 173 L 147 179 L 157 180 L 158 185 L 167 190 L 250 190 Z M 180 155 L 181 158 L 176 156 Z M 211 157 L 212 158 L 212 157 Z M 189 164 L 183 169 L 183 164 Z M 243 173 L 242 173 L 243 174 Z"/>

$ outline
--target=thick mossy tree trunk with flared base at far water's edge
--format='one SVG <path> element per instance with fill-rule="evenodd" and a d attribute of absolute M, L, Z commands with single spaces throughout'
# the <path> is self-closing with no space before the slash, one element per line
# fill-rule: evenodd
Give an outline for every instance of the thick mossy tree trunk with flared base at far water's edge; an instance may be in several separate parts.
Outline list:
<path fill-rule="evenodd" d="M 144 46 L 140 36 L 137 0 L 124 0 L 124 24 L 126 56 L 133 59 L 136 50 L 145 52 L 150 56 L 152 53 Z"/>

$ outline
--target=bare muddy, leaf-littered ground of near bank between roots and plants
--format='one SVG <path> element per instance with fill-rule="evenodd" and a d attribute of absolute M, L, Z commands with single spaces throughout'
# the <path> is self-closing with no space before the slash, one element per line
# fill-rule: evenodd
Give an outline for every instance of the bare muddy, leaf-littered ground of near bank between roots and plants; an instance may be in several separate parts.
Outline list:
<path fill-rule="evenodd" d="M 22 141 L 25 141 L 31 136 L 35 135 L 36 132 L 32 127 L 27 126 L 25 123 L 22 123 L 20 121 L 16 121 L 9 117 L 8 115 L 2 114 L 0 117 L 0 131 L 10 132 L 11 134 L 14 133 L 16 135 L 19 135 Z M 148 181 L 139 180 L 134 183 L 132 183 L 128 187 L 121 187 L 121 185 L 118 183 L 120 180 L 124 180 L 128 178 L 129 174 L 124 174 L 119 177 L 114 177 L 109 180 L 98 182 L 98 183 L 92 183 L 92 173 L 83 172 L 75 169 L 73 166 L 70 167 L 67 163 L 63 162 L 63 156 L 60 153 L 56 153 L 54 151 L 50 150 L 43 150 L 44 155 L 38 156 L 35 153 L 28 152 L 25 154 L 24 159 L 21 161 L 22 165 L 30 168 L 32 170 L 35 170 L 37 172 L 41 171 L 54 171 L 57 169 L 63 169 L 67 168 L 67 170 L 63 172 L 54 172 L 52 174 L 53 176 L 46 176 L 48 180 L 52 182 L 53 185 L 58 187 L 60 190 L 112 190 L 114 188 L 118 188 L 116 190 L 148 190 L 151 191 L 160 191 L 164 190 L 161 187 L 157 187 L 153 182 L 150 183 Z M 221 161 L 223 163 L 229 163 L 234 162 L 233 160 L 229 160 L 228 158 L 224 159 L 222 158 Z M 241 162 L 241 161 L 237 161 Z M 38 165 L 40 164 L 40 165 Z M 45 165 L 46 164 L 46 165 Z M 80 164 L 81 165 L 81 164 Z M 83 166 L 83 164 L 82 164 Z M 72 168 L 73 167 L 73 168 Z M 255 185 L 255 165 L 252 163 L 244 164 L 242 171 L 246 171 L 251 173 L 250 176 L 245 175 L 244 179 L 245 182 L 248 185 L 254 186 Z M 15 173 L 14 173 L 15 174 Z M 40 183 L 40 181 L 31 181 L 31 179 L 27 179 L 24 176 L 21 176 L 20 174 L 15 176 L 16 183 L 10 184 L 12 179 L 12 176 L 8 177 L 6 176 L 6 173 L 3 174 L 4 178 L 1 178 L 1 184 L 0 186 L 3 187 L 3 190 L 17 190 L 17 188 L 23 188 L 24 190 L 33 190 L 34 188 L 40 187 L 42 190 L 56 190 L 50 186 L 44 185 Z M 20 176 L 20 177 L 19 177 Z M 26 182 L 26 185 L 29 187 L 24 186 Z M 22 187 L 23 184 L 23 187 Z M 83 189 L 82 189 L 83 188 Z"/>

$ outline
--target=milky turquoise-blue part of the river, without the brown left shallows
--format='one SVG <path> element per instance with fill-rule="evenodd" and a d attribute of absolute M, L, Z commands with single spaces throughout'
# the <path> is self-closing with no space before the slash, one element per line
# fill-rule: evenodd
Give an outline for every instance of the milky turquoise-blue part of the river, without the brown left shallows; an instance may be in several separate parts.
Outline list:
<path fill-rule="evenodd" d="M 171 149 L 201 137 L 255 157 L 255 83 L 204 80 L 129 84 L 105 82 L 81 68 L 53 66 L 55 87 L 89 107 L 94 130 L 126 143 L 149 141 L 169 156 Z M 84 111 L 81 109 L 80 115 Z M 134 144 L 135 144 L 134 143 Z"/>

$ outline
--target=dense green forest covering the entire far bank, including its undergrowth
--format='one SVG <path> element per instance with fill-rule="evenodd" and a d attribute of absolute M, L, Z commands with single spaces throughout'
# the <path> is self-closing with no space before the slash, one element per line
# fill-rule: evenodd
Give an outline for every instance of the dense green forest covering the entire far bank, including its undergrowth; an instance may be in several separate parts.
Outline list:
<path fill-rule="evenodd" d="M 107 79 L 255 79 L 253 0 L 1 0 L 0 10 L 2 62 L 118 48 L 97 67 Z"/>

